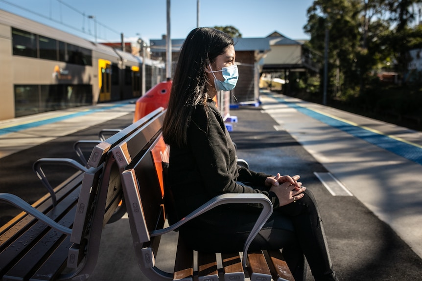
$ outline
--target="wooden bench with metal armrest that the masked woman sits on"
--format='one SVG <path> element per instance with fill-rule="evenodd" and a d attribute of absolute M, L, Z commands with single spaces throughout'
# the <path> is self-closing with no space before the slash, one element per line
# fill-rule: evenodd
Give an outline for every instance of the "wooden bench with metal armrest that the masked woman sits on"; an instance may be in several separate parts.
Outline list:
<path fill-rule="evenodd" d="M 261 194 L 219 195 L 184 219 L 164 227 L 166 210 L 165 189 L 162 179 L 160 154 L 165 153 L 165 145 L 160 135 L 150 146 L 148 153 L 136 155 L 136 150 L 128 149 L 136 143 L 136 136 L 126 146 L 116 148 L 113 153 L 120 158 L 123 193 L 129 224 L 138 264 L 143 274 L 151 281 L 240 281 L 249 277 L 252 281 L 293 281 L 293 277 L 282 258 L 280 250 L 248 252 L 248 247 L 273 207 L 269 199 Z M 135 154 L 134 154 L 135 153 Z M 177 241 L 173 272 L 165 272 L 156 266 L 156 258 L 161 236 L 177 230 L 190 219 L 199 216 L 213 207 L 226 203 L 260 203 L 263 205 L 243 254 L 240 253 L 196 253 L 189 250 L 181 239 Z M 176 242 L 176 241 L 175 241 Z M 161 253 L 161 255 L 165 253 Z M 196 260 L 194 260 L 194 257 Z M 219 258 L 221 257 L 221 258 Z M 195 266 L 197 264 L 197 266 Z M 219 266 L 221 265 L 221 266 Z"/>

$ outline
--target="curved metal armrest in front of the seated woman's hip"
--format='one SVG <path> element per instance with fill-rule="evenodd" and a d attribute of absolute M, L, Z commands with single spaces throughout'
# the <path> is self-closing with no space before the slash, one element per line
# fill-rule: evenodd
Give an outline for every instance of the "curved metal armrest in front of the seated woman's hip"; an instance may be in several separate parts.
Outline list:
<path fill-rule="evenodd" d="M 249 204 L 249 203 L 258 203 L 262 205 L 262 211 L 259 215 L 257 222 L 255 223 L 254 227 L 251 230 L 251 233 L 249 234 L 248 238 L 245 241 L 245 244 L 243 246 L 243 260 L 242 265 L 243 268 L 246 268 L 246 258 L 247 258 L 247 252 L 249 249 L 249 246 L 252 242 L 252 240 L 257 236 L 258 232 L 261 230 L 262 226 L 265 224 L 267 219 L 271 216 L 273 213 L 273 204 L 268 199 L 267 196 L 263 194 L 223 194 L 218 195 L 214 198 L 212 198 L 210 201 L 190 213 L 188 216 L 185 216 L 175 224 L 172 224 L 169 227 L 154 230 L 150 233 L 151 236 L 159 236 L 163 235 L 165 233 L 168 233 L 170 231 L 173 231 L 177 228 L 179 228 L 184 223 L 188 222 L 192 218 L 195 218 L 197 216 L 200 216 L 204 214 L 205 212 L 211 210 L 212 208 L 223 205 L 223 204 Z"/>

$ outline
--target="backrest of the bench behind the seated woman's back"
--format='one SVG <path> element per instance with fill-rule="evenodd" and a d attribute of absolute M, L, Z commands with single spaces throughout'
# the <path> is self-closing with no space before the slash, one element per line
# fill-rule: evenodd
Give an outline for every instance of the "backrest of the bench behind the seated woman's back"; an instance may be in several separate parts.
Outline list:
<path fill-rule="evenodd" d="M 157 163 L 161 165 L 161 152 L 165 152 L 160 135 L 137 162 L 131 163 L 122 173 L 123 192 L 132 233 L 133 244 L 142 272 L 150 279 L 164 279 L 172 275 L 155 270 L 155 257 L 160 236 L 150 237 L 153 230 L 164 227 L 163 187 L 157 173 Z M 161 170 L 159 170 L 161 171 Z"/>

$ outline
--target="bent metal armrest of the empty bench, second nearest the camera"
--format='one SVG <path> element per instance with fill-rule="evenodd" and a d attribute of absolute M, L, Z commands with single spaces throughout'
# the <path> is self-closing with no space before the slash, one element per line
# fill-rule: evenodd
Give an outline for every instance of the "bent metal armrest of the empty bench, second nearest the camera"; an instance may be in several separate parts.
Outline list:
<path fill-rule="evenodd" d="M 43 169 L 41 169 L 41 166 L 42 165 L 58 165 L 58 164 L 71 166 L 81 172 L 88 171 L 86 167 L 82 166 L 80 163 L 70 158 L 41 158 L 35 161 L 34 165 L 32 165 L 32 170 L 37 174 L 38 178 L 47 188 L 49 194 L 51 195 L 53 206 L 57 205 L 56 194 L 54 193 L 54 189 L 51 187 L 50 183 L 48 182 L 46 174 L 43 172 Z"/>

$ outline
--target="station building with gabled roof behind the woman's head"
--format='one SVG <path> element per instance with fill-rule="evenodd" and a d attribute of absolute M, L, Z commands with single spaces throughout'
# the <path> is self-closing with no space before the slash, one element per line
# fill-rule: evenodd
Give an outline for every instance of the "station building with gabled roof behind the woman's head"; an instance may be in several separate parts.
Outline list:
<path fill-rule="evenodd" d="M 172 70 L 179 59 L 184 39 L 171 40 Z M 150 40 L 151 58 L 165 61 L 165 35 Z M 312 63 L 313 52 L 305 48 L 304 41 L 295 41 L 275 31 L 265 38 L 234 38 L 239 80 L 230 103 L 256 103 L 259 99 L 259 78 L 263 72 L 319 71 Z"/>

